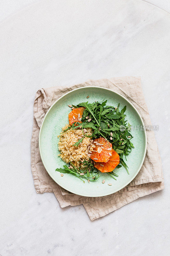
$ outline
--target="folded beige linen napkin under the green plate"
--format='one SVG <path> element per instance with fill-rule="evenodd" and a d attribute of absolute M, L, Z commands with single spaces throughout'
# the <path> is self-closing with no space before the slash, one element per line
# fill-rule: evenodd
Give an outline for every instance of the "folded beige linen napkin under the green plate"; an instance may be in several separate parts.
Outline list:
<path fill-rule="evenodd" d="M 139 111 L 145 126 L 151 120 L 144 100 L 140 77 L 117 77 L 89 80 L 82 84 L 66 87 L 50 87 L 36 93 L 33 106 L 33 134 L 31 140 L 31 169 L 37 193 L 53 192 L 61 207 L 83 204 L 90 219 L 95 220 L 113 212 L 131 201 L 164 188 L 159 150 L 153 131 L 147 133 L 147 151 L 141 170 L 129 185 L 120 191 L 103 197 L 85 197 L 72 194 L 61 188 L 46 172 L 39 153 L 38 136 L 42 120 L 50 106 L 66 92 L 83 86 L 109 88 L 126 97 Z"/>

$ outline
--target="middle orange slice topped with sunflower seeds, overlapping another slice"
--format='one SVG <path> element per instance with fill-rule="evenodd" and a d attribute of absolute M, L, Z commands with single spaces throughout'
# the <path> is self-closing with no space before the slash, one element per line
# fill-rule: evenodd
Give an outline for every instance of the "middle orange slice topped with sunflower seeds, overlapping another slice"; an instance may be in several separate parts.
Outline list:
<path fill-rule="evenodd" d="M 93 144 L 95 145 L 95 148 L 93 148 L 91 159 L 95 162 L 106 163 L 107 160 L 110 158 L 110 155 L 112 154 L 112 150 L 108 150 L 112 148 L 112 144 L 109 142 L 108 145 L 107 141 L 105 141 L 104 138 L 95 139 L 93 141 Z"/>

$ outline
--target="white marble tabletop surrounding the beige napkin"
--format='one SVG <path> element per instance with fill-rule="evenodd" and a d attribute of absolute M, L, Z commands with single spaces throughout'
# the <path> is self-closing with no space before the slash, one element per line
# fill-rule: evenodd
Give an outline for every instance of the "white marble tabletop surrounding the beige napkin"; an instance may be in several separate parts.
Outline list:
<path fill-rule="evenodd" d="M 2 1 L 0 25 L 0 254 L 169 255 L 169 14 L 136 0 L 11 3 L 5 12 Z M 142 77 L 159 125 L 165 189 L 92 222 L 82 205 L 61 209 L 52 193 L 35 192 L 33 100 L 41 87 L 128 75 Z"/>

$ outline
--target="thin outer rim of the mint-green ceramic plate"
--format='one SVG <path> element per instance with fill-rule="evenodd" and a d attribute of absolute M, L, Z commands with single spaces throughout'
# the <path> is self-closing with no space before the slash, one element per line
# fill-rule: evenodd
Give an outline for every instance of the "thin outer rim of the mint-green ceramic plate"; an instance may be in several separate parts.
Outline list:
<path fill-rule="evenodd" d="M 128 100 L 126 99 L 122 94 L 118 93 L 118 92 L 115 92 L 114 90 L 111 90 L 111 89 L 108 89 L 108 88 L 105 88 L 105 87 L 102 87 L 102 86 L 82 86 L 82 87 L 79 87 L 79 88 L 76 88 L 76 89 L 73 89 L 71 90 L 70 92 L 73 92 L 73 91 L 77 91 L 77 90 L 80 90 L 80 89 L 83 89 L 83 88 L 100 88 L 100 89 L 105 89 L 107 91 L 111 91 L 111 92 L 114 92 L 116 93 L 117 95 L 121 96 L 122 98 L 124 98 L 125 100 L 128 101 L 128 103 L 135 109 L 135 111 L 137 112 L 142 124 L 144 125 L 144 122 L 143 122 L 143 119 L 140 115 L 140 113 L 138 112 L 138 110 L 135 108 L 135 106 Z M 69 94 L 70 92 L 66 92 L 65 94 L 63 94 L 60 98 L 58 98 L 57 100 L 55 100 L 55 102 L 51 105 L 51 107 L 48 109 L 47 113 L 45 114 L 44 116 L 44 119 L 42 121 L 42 124 L 41 124 L 41 127 L 40 127 L 40 131 L 39 131 L 39 138 L 38 138 L 38 145 L 39 145 L 39 151 L 40 151 L 40 156 L 41 156 L 41 161 L 42 161 L 42 164 L 44 165 L 44 168 L 46 169 L 46 171 L 48 172 L 48 169 L 46 168 L 45 164 L 44 164 L 44 161 L 43 161 L 43 158 L 42 158 L 42 155 L 41 155 L 41 146 L 40 146 L 40 137 L 41 137 L 41 129 L 42 129 L 42 126 L 43 126 L 43 123 L 44 123 L 44 120 L 45 118 L 47 117 L 48 115 L 48 112 L 50 111 L 50 109 L 55 105 L 55 103 L 58 101 L 58 100 L 61 100 L 64 96 L 66 96 L 67 94 Z M 63 185 L 60 185 L 56 180 L 55 178 L 48 172 L 49 176 L 62 188 L 66 189 L 67 191 L 73 193 L 73 194 L 76 194 L 78 196 L 85 196 L 85 197 L 103 197 L 103 196 L 108 196 L 108 195 L 112 195 L 114 193 L 116 193 L 117 191 L 121 190 L 122 188 L 125 188 L 136 176 L 137 174 L 139 173 L 143 163 L 144 163 L 144 158 L 145 158 L 145 155 L 146 155 L 146 149 L 147 149 L 147 135 L 146 135 L 146 131 L 144 130 L 144 135 L 145 135 L 145 148 L 144 148 L 144 155 L 143 155 L 143 158 L 142 158 L 142 161 L 141 161 L 141 164 L 139 166 L 139 168 L 137 169 L 137 172 L 136 174 L 132 177 L 132 179 L 130 181 L 128 181 L 125 185 L 123 185 L 121 188 L 119 188 L 118 190 L 115 190 L 114 192 L 111 192 L 111 193 L 107 193 L 105 195 L 98 195 L 98 196 L 92 196 L 92 195 L 82 195 L 82 194 L 79 194 L 79 193 L 76 193 L 76 192 L 73 192 L 71 190 L 69 190 L 68 188 L 65 188 Z"/>

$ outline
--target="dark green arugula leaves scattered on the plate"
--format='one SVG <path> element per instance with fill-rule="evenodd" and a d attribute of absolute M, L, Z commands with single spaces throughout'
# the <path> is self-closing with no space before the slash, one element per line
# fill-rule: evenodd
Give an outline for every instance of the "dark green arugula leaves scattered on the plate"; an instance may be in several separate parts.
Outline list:
<path fill-rule="evenodd" d="M 93 132 L 92 135 L 87 136 L 84 133 L 84 136 L 86 137 L 92 137 L 92 139 L 99 138 L 100 136 L 105 138 L 107 142 L 112 143 L 113 149 L 119 154 L 120 156 L 120 164 L 117 165 L 117 168 L 122 167 L 122 165 L 125 167 L 125 169 L 128 172 L 128 166 L 124 161 L 124 157 L 126 159 L 126 156 L 129 155 L 132 148 L 134 148 L 133 143 L 130 141 L 133 136 L 130 134 L 131 126 L 129 123 L 127 123 L 125 111 L 126 106 L 124 106 L 121 110 L 119 110 L 120 104 L 118 104 L 117 108 L 113 106 L 107 106 L 106 105 L 107 100 L 103 100 L 101 102 L 93 102 L 88 103 L 82 102 L 79 103 L 77 106 L 74 106 L 74 108 L 80 108 L 84 107 L 85 110 L 83 112 L 82 116 L 82 123 L 75 122 L 71 126 L 69 126 L 66 130 L 63 131 L 67 132 L 69 129 L 77 129 L 77 128 L 92 128 Z M 88 119 L 92 119 L 90 122 L 88 122 L 88 119 L 86 117 L 89 116 Z M 112 136 L 111 136 L 112 135 Z M 78 147 L 79 143 L 82 142 L 84 138 L 78 140 L 74 144 L 75 147 Z M 126 159 L 127 160 L 127 159 Z M 72 163 L 70 163 L 72 164 Z M 98 170 L 94 168 L 93 164 L 88 161 L 85 161 L 84 163 L 84 169 L 81 170 L 84 171 L 83 177 L 88 180 L 96 180 L 96 174 L 98 173 Z M 122 164 L 122 165 L 121 165 Z M 74 165 L 72 164 L 74 167 Z M 90 171 L 89 171 L 90 170 Z M 58 172 L 63 173 L 71 173 L 77 177 L 82 176 L 79 174 L 80 170 L 77 170 L 75 167 L 74 169 L 69 169 L 67 165 L 64 165 L 64 169 L 56 169 Z M 95 179 L 93 178 L 95 174 Z M 117 174 L 113 172 L 109 172 L 109 175 L 111 175 L 113 178 L 115 176 L 118 176 Z M 129 172 L 128 172 L 129 174 Z M 89 176 L 90 175 L 90 176 Z M 98 174 L 99 177 L 99 174 Z M 115 179 L 115 178 L 114 178 Z"/>

